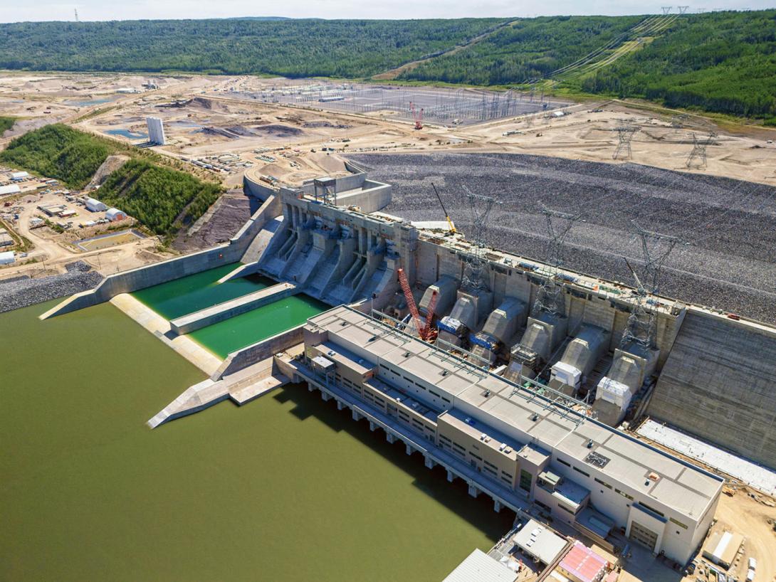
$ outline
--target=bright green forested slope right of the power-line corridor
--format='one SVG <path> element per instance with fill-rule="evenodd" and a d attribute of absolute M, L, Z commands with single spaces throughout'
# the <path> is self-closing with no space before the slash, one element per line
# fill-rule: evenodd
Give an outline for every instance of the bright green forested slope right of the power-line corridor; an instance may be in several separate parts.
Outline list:
<path fill-rule="evenodd" d="M 586 92 L 776 122 L 776 10 L 677 19 L 670 34 L 577 82 Z"/>

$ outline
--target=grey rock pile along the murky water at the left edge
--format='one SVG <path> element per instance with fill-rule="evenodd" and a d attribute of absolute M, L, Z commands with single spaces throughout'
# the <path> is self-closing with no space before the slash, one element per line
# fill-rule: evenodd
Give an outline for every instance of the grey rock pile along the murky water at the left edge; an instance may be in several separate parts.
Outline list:
<path fill-rule="evenodd" d="M 103 277 L 85 262 L 65 265 L 68 272 L 40 279 L 0 281 L 0 313 L 94 289 Z"/>

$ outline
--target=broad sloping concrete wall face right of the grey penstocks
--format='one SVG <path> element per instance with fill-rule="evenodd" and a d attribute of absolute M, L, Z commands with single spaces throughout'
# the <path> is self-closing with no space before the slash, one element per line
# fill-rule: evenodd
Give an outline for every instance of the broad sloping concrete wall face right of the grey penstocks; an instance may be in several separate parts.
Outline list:
<path fill-rule="evenodd" d="M 776 338 L 688 310 L 646 414 L 776 468 Z"/>

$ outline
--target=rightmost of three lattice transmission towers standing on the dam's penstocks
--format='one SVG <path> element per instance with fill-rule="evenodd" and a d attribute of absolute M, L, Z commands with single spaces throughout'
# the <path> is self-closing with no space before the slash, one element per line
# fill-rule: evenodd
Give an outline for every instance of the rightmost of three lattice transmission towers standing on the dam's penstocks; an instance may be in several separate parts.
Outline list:
<path fill-rule="evenodd" d="M 660 273 L 663 270 L 668 255 L 681 241 L 670 234 L 660 234 L 651 230 L 644 230 L 632 221 L 637 236 L 641 239 L 643 267 L 641 276 L 625 259 L 625 264 L 636 279 L 636 303 L 633 305 L 625 331 L 622 332 L 620 347 L 639 345 L 643 348 L 653 348 L 655 345 L 655 333 L 657 327 L 657 313 L 650 301 L 650 296 L 658 293 Z"/>

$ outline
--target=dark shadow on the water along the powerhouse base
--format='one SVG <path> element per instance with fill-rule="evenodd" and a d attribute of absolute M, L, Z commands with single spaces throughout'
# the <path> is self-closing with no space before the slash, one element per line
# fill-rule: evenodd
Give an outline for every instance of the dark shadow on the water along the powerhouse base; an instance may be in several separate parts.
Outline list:
<path fill-rule="evenodd" d="M 350 409 L 339 411 L 333 398 L 324 402 L 320 398 L 320 392 L 308 391 L 306 384 L 285 386 L 275 393 L 273 398 L 281 403 L 292 402 L 294 407 L 289 413 L 300 421 L 315 417 L 332 431 L 344 431 L 369 446 L 374 452 L 413 477 L 414 487 L 444 505 L 449 511 L 469 521 L 494 542 L 511 528 L 514 511 L 502 508 L 496 513 L 493 509 L 493 500 L 486 494 L 480 494 L 476 499 L 470 497 L 467 492 L 468 487 L 463 480 L 456 479 L 449 483 L 447 472 L 442 466 L 427 469 L 421 453 L 414 452 L 412 455 L 407 455 L 404 442 L 397 441 L 390 444 L 386 441 L 386 435 L 382 429 L 370 431 L 369 421 L 365 419 L 354 421 Z"/>

